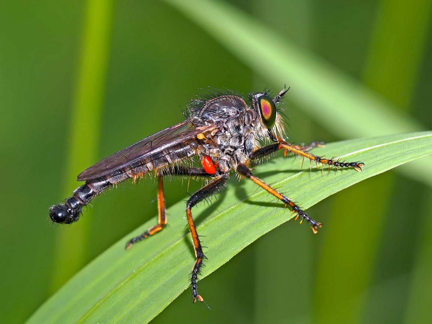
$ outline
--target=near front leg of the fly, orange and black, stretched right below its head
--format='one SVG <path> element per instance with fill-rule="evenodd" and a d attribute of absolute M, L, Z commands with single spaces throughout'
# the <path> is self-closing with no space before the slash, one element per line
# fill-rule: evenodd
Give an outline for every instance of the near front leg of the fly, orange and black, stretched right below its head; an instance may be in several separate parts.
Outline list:
<path fill-rule="evenodd" d="M 257 149 L 256 151 L 254 151 L 249 158 L 250 159 L 259 159 L 261 157 L 270 155 L 274 152 L 279 151 L 280 149 L 286 149 L 287 151 L 293 152 L 294 154 L 297 154 L 299 156 L 303 156 L 306 159 L 310 159 L 311 161 L 317 163 L 322 163 L 325 165 L 334 165 L 336 168 L 341 167 L 353 167 L 354 169 L 356 169 L 356 171 L 362 171 L 362 167 L 365 165 L 363 162 L 339 162 L 339 160 L 335 160 L 335 159 L 323 159 L 322 156 L 317 156 L 314 154 L 311 154 L 309 152 L 305 152 L 302 149 L 299 149 L 295 146 L 289 145 L 287 143 L 275 143 L 275 144 L 270 144 L 264 147 L 261 147 L 260 149 Z"/>

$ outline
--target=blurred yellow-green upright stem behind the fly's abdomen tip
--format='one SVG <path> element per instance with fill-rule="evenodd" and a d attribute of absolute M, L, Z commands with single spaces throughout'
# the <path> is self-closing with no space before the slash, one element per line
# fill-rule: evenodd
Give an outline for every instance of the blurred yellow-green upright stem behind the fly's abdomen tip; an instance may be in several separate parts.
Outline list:
<path fill-rule="evenodd" d="M 79 186 L 76 176 L 97 162 L 113 1 L 88 0 L 84 14 L 73 108 L 69 123 L 65 123 L 69 124 L 70 131 L 61 199 L 70 197 Z M 90 210 L 80 222 L 57 231 L 51 292 L 56 291 L 87 262 Z"/>

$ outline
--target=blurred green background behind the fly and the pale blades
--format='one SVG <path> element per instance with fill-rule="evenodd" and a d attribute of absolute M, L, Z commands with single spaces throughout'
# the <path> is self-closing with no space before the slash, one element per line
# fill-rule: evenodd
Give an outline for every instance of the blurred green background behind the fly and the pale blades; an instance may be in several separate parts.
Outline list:
<path fill-rule="evenodd" d="M 431 1 L 230 2 L 432 128 Z M 72 226 L 47 220 L 80 171 L 182 121 L 180 108 L 207 86 L 247 94 L 283 84 L 164 2 L 0 3 L 1 323 L 24 322 L 156 214 L 155 186 L 140 181 L 107 191 Z M 293 142 L 351 137 L 302 105 L 285 108 Z M 318 235 L 287 222 L 201 281 L 212 311 L 187 291 L 153 322 L 430 323 L 428 181 L 391 171 L 335 194 L 309 210 L 325 224 Z M 200 185 L 166 182 L 167 205 Z"/>

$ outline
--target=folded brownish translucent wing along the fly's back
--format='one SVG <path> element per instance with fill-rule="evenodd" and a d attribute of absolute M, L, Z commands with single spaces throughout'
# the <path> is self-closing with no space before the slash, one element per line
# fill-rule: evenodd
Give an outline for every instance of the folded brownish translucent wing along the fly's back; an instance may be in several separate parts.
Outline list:
<path fill-rule="evenodd" d="M 92 165 L 78 175 L 78 181 L 111 174 L 120 168 L 148 158 L 162 150 L 169 150 L 170 147 L 196 137 L 197 134 L 212 128 L 214 128 L 213 125 L 205 128 L 199 127 L 198 129 L 190 121 L 168 127 Z"/>

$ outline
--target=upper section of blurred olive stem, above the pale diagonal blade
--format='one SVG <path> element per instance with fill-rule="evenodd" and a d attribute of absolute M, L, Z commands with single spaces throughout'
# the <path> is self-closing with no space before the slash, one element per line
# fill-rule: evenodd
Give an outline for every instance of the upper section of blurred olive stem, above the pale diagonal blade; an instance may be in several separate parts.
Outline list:
<path fill-rule="evenodd" d="M 376 14 L 363 81 L 405 111 L 415 95 L 431 4 L 429 0 L 381 0 Z"/>

